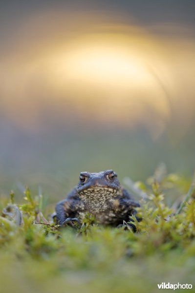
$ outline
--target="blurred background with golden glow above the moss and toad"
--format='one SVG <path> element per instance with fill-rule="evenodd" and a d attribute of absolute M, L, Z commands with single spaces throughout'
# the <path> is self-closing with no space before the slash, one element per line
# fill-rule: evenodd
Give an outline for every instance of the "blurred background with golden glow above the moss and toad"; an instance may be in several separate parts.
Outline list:
<path fill-rule="evenodd" d="M 0 191 L 195 167 L 195 1 L 0 4 Z"/>

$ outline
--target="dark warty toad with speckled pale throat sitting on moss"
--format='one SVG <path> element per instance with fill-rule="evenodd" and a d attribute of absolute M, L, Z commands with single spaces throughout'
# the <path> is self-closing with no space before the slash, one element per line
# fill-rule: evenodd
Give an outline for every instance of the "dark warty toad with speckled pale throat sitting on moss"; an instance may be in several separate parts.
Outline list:
<path fill-rule="evenodd" d="M 98 223 L 117 226 L 129 221 L 129 216 L 136 213 L 134 207 L 139 204 L 120 186 L 115 172 L 82 172 L 78 186 L 56 205 L 57 221 L 63 225 L 66 220 L 90 212 Z"/>

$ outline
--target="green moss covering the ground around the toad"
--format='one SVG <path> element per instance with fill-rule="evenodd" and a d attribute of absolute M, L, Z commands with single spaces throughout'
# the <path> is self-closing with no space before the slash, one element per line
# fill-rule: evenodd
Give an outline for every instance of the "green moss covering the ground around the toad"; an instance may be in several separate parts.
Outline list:
<path fill-rule="evenodd" d="M 147 293 L 157 292 L 162 282 L 194 286 L 193 187 L 176 174 L 159 172 L 146 184 L 133 184 L 136 194 L 147 197 L 137 209 L 142 221 L 131 217 L 136 233 L 99 226 L 90 214 L 83 215 L 81 227 L 59 228 L 43 215 L 43 196 L 34 197 L 27 188 L 19 206 L 12 191 L 9 202 L 1 201 L 2 292 Z M 189 195 L 186 186 L 187 202 L 185 194 L 178 201 L 179 190 Z M 21 226 L 16 215 L 7 216 L 8 204 L 22 211 Z"/>

